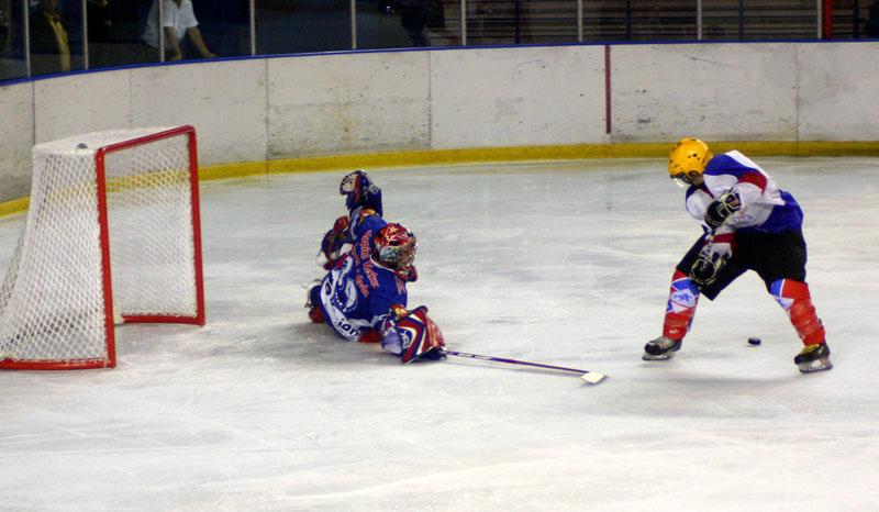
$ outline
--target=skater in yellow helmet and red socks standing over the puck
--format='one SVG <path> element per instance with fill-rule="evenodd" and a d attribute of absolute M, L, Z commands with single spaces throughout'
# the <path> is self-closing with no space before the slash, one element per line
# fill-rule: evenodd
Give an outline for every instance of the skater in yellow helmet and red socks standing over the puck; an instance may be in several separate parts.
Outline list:
<path fill-rule="evenodd" d="M 699 296 L 714 300 L 738 276 L 755 270 L 803 342 L 793 359 L 800 371 L 831 369 L 824 326 L 805 283 L 803 213 L 793 196 L 742 153 L 713 156 L 698 138 L 675 146 L 668 172 L 687 186 L 687 211 L 704 235 L 678 263 L 663 335 L 644 346 L 643 358 L 671 357 L 692 324 Z"/>

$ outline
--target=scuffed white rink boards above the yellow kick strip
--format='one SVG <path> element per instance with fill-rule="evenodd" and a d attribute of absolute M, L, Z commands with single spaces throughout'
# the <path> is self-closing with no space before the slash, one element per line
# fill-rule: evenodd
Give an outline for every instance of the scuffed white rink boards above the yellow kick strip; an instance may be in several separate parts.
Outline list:
<path fill-rule="evenodd" d="M 596 145 L 682 134 L 872 143 L 877 49 L 871 42 L 448 48 L 197 62 L 15 84 L 0 88 L 0 201 L 26 194 L 34 143 L 146 125 L 194 125 L 203 167 L 251 166 L 232 174 L 388 152 L 488 152 L 463 158 L 472 162 L 492 159 L 496 149 L 563 146 L 583 157 Z"/>

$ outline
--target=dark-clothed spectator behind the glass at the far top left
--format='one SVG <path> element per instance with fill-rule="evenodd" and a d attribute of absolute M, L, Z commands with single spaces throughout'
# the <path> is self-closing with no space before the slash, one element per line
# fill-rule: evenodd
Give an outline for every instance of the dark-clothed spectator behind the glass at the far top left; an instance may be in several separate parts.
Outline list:
<path fill-rule="evenodd" d="M 31 16 L 31 73 L 45 75 L 70 70 L 70 44 L 58 0 L 40 0 Z"/>

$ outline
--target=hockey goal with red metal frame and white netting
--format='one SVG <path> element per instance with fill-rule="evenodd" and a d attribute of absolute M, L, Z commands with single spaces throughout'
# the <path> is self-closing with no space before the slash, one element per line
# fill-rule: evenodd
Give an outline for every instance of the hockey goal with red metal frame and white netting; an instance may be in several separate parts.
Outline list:
<path fill-rule="evenodd" d="M 0 368 L 114 367 L 120 318 L 203 325 L 198 198 L 192 126 L 34 146 L 0 288 Z"/>

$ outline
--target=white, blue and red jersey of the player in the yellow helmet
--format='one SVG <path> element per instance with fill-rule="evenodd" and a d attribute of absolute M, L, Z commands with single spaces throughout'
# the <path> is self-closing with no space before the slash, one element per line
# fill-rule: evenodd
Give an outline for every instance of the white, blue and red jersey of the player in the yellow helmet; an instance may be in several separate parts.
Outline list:
<path fill-rule="evenodd" d="M 687 211 L 704 224 L 709 204 L 726 192 L 735 193 L 742 208 L 727 221 L 738 233 L 800 231 L 803 212 L 789 192 L 780 190 L 765 170 L 737 151 L 712 158 L 702 175 L 704 183 L 687 190 Z M 725 230 L 724 230 L 725 231 Z"/>

